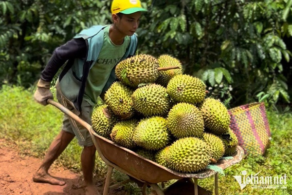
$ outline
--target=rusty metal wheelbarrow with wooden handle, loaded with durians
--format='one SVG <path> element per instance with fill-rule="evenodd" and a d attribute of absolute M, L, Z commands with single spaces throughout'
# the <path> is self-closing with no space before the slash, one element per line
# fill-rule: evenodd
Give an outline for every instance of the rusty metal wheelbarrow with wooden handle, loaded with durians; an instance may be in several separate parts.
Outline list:
<path fill-rule="evenodd" d="M 142 187 L 143 195 L 146 195 L 147 186 L 150 186 L 157 195 L 164 195 L 164 191 L 157 184 L 172 179 L 192 180 L 192 183 L 194 184 L 194 191 L 191 194 L 198 195 L 198 179 L 207 178 L 213 175 L 215 177 L 215 195 L 219 195 L 218 172 L 215 172 L 212 169 L 206 169 L 194 174 L 184 174 L 170 170 L 160 164 L 157 164 L 149 159 L 146 159 L 143 156 L 136 154 L 135 152 L 127 148 L 117 145 L 116 143 L 105 137 L 97 135 L 93 131 L 90 124 L 82 120 L 80 117 L 78 117 L 73 112 L 65 108 L 60 103 L 54 101 L 53 99 L 48 99 L 47 102 L 57 107 L 60 111 L 73 118 L 75 121 L 79 122 L 90 132 L 93 144 L 96 147 L 98 155 L 108 165 L 108 172 L 104 184 L 103 195 L 108 195 L 109 189 L 117 186 L 117 184 L 110 186 L 110 179 L 113 168 L 127 174 L 128 176 L 136 179 L 139 182 L 142 182 L 144 184 Z M 216 165 L 224 170 L 227 167 L 238 163 L 240 160 L 242 160 L 243 156 L 243 149 L 240 146 L 237 146 L 237 151 L 232 159 L 220 159 L 216 163 Z"/>

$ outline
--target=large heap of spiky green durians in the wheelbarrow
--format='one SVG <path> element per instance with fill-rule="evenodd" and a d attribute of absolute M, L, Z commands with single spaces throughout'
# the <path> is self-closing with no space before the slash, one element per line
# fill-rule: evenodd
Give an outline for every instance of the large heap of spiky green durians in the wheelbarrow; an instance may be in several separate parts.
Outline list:
<path fill-rule="evenodd" d="M 183 74 L 178 59 L 139 54 L 119 62 L 115 74 L 119 81 L 92 114 L 98 135 L 182 173 L 235 153 L 226 107 L 207 98 L 204 82 Z"/>

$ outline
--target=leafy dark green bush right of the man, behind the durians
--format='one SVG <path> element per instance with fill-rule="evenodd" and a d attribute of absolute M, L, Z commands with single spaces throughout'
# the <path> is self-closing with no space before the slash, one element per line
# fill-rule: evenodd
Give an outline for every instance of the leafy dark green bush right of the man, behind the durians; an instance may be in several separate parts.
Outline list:
<path fill-rule="evenodd" d="M 283 38 L 292 36 L 291 0 L 147 3 L 150 12 L 138 33 L 140 52 L 177 57 L 186 74 L 203 79 L 210 95 L 231 107 L 290 103 L 292 69 L 283 62 L 292 55 Z"/>

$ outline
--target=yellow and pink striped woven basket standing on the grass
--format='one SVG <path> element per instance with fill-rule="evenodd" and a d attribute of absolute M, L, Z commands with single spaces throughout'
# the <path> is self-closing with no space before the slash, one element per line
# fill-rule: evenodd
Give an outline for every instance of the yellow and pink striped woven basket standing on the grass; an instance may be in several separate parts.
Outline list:
<path fill-rule="evenodd" d="M 255 102 L 228 110 L 230 128 L 245 154 L 263 155 L 269 147 L 271 131 L 263 102 Z"/>

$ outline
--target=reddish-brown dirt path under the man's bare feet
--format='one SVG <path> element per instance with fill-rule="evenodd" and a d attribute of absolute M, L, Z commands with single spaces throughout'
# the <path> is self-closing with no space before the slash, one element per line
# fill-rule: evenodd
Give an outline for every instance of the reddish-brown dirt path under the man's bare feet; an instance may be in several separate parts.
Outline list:
<path fill-rule="evenodd" d="M 2 140 L 0 140 L 2 141 Z M 13 149 L 0 146 L 0 195 L 84 195 L 82 177 L 64 168 L 52 167 L 50 174 L 66 181 L 64 186 L 35 183 L 32 176 L 41 159 L 20 156 Z M 77 188 L 77 189 L 76 189 Z M 102 186 L 98 187 L 100 192 Z M 110 195 L 123 195 L 122 191 L 111 191 Z"/>

